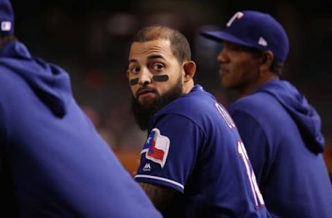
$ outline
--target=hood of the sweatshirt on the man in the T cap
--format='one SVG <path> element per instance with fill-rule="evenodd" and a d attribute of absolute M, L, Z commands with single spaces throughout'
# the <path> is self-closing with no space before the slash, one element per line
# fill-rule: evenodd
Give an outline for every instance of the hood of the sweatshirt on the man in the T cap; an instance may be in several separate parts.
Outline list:
<path fill-rule="evenodd" d="M 291 83 L 277 79 L 265 83 L 255 92 L 266 92 L 275 97 L 295 121 L 308 149 L 316 154 L 323 152 L 320 116 Z"/>

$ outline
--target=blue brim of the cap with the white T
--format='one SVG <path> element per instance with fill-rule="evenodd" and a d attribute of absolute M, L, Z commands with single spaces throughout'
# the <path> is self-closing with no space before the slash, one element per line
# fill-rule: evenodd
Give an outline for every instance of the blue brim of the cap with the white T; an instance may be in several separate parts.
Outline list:
<path fill-rule="evenodd" d="M 234 35 L 224 31 L 203 31 L 201 32 L 201 36 L 217 42 L 230 41 L 232 43 L 237 43 L 243 46 L 251 46 L 245 41 L 234 37 Z"/>

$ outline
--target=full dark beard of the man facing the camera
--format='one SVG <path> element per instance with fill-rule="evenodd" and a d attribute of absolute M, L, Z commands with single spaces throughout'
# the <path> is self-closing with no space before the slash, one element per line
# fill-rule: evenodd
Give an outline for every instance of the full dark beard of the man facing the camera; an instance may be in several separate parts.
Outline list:
<path fill-rule="evenodd" d="M 178 77 L 178 80 L 168 92 L 161 96 L 157 93 L 156 98 L 149 103 L 142 105 L 138 99 L 132 97 L 131 111 L 140 129 L 147 130 L 151 117 L 168 103 L 181 97 L 181 95 L 183 95 L 182 77 Z"/>

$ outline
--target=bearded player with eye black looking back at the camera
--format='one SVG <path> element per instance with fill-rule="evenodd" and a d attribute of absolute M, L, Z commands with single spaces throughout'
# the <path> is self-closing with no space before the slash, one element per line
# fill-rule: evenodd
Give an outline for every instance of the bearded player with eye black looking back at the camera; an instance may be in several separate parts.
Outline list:
<path fill-rule="evenodd" d="M 164 217 L 268 217 L 237 128 L 195 72 L 177 30 L 149 26 L 133 38 L 127 77 L 147 130 L 136 181 Z"/>

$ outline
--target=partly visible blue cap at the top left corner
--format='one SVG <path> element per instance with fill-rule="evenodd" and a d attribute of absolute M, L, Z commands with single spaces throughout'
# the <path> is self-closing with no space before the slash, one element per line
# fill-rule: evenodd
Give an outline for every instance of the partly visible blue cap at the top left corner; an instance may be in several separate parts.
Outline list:
<path fill-rule="evenodd" d="M 14 34 L 14 12 L 9 0 L 0 0 L 0 37 Z"/>

